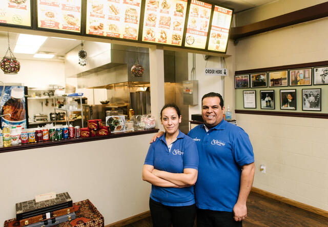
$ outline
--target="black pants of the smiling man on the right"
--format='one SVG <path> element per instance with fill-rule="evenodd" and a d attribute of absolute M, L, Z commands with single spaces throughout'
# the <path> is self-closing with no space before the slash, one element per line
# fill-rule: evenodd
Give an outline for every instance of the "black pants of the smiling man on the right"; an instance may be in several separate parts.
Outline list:
<path fill-rule="evenodd" d="M 197 227 L 242 227 L 242 221 L 235 221 L 232 212 L 211 211 L 197 208 Z"/>

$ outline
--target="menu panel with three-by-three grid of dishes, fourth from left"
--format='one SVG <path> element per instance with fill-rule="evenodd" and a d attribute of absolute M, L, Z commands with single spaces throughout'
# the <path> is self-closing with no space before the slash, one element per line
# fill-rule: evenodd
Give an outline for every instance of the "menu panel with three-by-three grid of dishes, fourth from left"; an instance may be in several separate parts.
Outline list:
<path fill-rule="evenodd" d="M 142 41 L 182 45 L 187 0 L 146 0 Z"/>

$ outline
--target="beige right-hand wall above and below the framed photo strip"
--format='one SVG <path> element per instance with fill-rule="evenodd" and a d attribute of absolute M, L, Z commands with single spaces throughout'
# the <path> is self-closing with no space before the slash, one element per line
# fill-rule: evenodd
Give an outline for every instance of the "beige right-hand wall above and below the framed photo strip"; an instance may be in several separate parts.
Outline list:
<path fill-rule="evenodd" d="M 273 4 L 303 6 L 305 2 L 310 1 Z M 257 12 L 270 14 L 271 5 L 259 7 Z M 236 70 L 327 60 L 327 27 L 326 17 L 241 39 L 235 47 Z M 322 97 L 324 101 L 327 94 Z M 236 119 L 254 147 L 254 187 L 328 210 L 327 119 L 250 114 L 236 114 Z M 260 164 L 267 166 L 266 174 L 259 172 Z"/>

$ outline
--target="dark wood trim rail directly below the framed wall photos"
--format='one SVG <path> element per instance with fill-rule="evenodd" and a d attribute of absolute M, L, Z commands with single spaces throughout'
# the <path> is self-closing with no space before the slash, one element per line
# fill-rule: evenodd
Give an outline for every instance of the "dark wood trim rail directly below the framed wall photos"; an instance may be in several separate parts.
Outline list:
<path fill-rule="evenodd" d="M 282 112 L 282 111 L 260 111 L 260 110 L 235 110 L 238 114 L 259 114 L 285 117 L 310 117 L 328 119 L 328 114 L 323 113 L 303 113 L 303 112 Z"/>

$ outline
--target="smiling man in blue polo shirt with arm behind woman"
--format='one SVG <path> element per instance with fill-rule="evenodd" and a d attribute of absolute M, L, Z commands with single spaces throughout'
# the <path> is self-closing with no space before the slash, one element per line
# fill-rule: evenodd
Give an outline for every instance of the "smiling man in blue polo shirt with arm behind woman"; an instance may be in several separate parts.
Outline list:
<path fill-rule="evenodd" d="M 198 148 L 198 179 L 195 184 L 197 227 L 242 226 L 246 201 L 252 189 L 255 164 L 247 133 L 223 119 L 222 96 L 202 97 L 203 125 L 188 136 Z"/>

